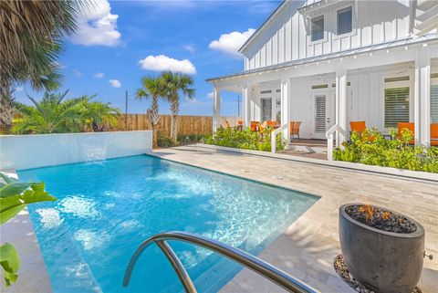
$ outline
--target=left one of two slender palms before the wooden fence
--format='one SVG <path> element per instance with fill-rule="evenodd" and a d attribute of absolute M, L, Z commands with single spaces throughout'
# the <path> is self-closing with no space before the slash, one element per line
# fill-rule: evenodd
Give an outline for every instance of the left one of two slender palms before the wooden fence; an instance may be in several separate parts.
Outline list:
<path fill-rule="evenodd" d="M 137 89 L 137 99 L 151 98 L 151 107 L 147 110 L 147 115 L 152 128 L 152 147 L 158 145 L 158 122 L 160 116 L 158 114 L 158 99 L 165 95 L 165 84 L 161 77 L 144 77 L 141 78 L 141 89 Z"/>

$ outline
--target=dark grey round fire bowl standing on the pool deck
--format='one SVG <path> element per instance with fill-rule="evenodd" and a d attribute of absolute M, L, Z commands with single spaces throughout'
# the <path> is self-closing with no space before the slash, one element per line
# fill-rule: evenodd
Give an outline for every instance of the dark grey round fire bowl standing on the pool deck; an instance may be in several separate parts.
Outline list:
<path fill-rule="evenodd" d="M 422 275 L 424 228 L 409 234 L 382 231 L 361 224 L 339 207 L 339 242 L 350 274 L 362 285 L 380 293 L 410 293 Z M 375 208 L 401 215 L 386 208 Z"/>

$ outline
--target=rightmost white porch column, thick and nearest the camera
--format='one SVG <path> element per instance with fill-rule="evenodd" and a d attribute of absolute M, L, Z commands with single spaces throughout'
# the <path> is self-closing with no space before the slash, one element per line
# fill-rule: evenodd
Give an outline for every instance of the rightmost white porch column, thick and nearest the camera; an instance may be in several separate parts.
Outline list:
<path fill-rule="evenodd" d="M 415 144 L 431 143 L 431 58 L 427 47 L 419 49 L 415 58 L 413 95 Z"/>

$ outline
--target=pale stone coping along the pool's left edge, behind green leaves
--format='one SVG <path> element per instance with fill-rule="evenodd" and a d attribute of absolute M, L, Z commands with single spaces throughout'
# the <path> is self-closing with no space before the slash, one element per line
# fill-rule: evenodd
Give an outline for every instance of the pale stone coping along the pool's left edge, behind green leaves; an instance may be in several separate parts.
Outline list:
<path fill-rule="evenodd" d="M 18 178 L 16 170 L 5 170 L 2 173 L 12 178 Z M 0 235 L 1 243 L 8 242 L 15 246 L 20 256 L 20 269 L 16 283 L 5 288 L 2 276 L 0 291 L 5 293 L 52 293 L 46 265 L 27 209 L 1 225 Z"/>

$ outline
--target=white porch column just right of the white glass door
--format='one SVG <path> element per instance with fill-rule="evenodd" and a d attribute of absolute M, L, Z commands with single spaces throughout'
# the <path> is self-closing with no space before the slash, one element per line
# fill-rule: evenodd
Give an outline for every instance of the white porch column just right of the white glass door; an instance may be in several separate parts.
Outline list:
<path fill-rule="evenodd" d="M 347 71 L 344 68 L 336 70 L 336 124 L 338 124 L 345 133 L 348 133 L 348 106 L 347 106 Z M 348 140 L 339 131 L 336 132 L 336 146 L 339 147 L 342 142 Z"/>

